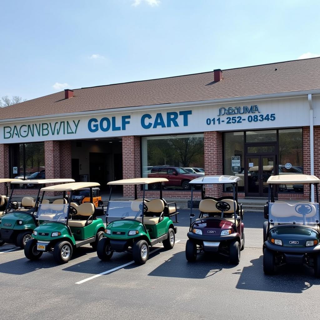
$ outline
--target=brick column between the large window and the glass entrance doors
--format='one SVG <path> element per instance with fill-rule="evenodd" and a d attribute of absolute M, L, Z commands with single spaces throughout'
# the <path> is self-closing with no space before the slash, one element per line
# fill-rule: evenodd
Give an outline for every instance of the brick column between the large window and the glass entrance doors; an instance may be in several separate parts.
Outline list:
<path fill-rule="evenodd" d="M 223 174 L 222 133 L 204 132 L 204 170 L 205 175 Z M 222 196 L 222 185 L 206 185 L 206 196 Z"/>

